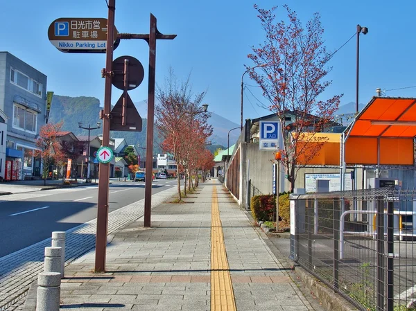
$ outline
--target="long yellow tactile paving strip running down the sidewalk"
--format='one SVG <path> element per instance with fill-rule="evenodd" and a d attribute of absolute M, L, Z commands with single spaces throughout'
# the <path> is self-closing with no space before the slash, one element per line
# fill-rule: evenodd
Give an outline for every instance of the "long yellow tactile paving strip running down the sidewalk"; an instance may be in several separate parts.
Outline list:
<path fill-rule="evenodd" d="M 211 311 L 220 310 L 235 311 L 236 303 L 225 252 L 216 186 L 214 186 L 211 203 Z"/>

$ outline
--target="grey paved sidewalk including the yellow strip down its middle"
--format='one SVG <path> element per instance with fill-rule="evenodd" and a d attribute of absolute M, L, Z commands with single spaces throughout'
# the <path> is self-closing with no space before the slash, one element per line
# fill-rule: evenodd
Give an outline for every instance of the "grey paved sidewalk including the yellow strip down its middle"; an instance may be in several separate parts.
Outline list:
<path fill-rule="evenodd" d="M 150 229 L 140 218 L 115 231 L 105 274 L 94 251 L 68 265 L 61 310 L 323 310 L 216 179 L 186 201 L 153 208 Z"/>

